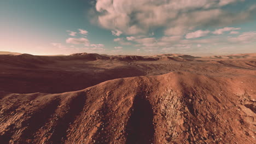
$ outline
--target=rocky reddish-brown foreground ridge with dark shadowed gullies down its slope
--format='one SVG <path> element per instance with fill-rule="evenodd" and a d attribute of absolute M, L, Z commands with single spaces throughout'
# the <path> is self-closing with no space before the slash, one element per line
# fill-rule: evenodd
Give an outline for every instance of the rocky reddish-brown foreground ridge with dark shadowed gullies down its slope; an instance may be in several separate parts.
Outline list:
<path fill-rule="evenodd" d="M 2 93 L 0 141 L 251 144 L 255 81 L 173 72 L 60 94 Z"/>

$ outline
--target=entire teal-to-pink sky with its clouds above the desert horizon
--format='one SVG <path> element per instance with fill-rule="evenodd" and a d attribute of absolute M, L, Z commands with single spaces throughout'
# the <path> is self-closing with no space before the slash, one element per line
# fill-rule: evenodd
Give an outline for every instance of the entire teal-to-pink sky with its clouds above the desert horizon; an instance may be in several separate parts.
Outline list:
<path fill-rule="evenodd" d="M 0 51 L 256 52 L 255 0 L 1 0 L 0 20 Z"/>

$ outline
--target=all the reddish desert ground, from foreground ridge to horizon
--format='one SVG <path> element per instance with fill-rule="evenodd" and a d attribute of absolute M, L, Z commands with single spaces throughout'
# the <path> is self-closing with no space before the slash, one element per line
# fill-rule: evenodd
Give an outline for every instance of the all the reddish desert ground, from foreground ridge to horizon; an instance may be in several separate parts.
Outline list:
<path fill-rule="evenodd" d="M 255 54 L 0 55 L 0 67 L 1 143 L 255 143 Z"/>

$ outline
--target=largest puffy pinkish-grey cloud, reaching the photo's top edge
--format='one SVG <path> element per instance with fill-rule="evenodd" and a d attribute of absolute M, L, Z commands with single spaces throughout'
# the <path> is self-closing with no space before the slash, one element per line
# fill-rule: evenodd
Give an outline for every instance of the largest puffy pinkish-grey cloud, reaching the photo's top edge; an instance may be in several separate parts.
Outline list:
<path fill-rule="evenodd" d="M 135 35 L 164 28 L 166 35 L 182 35 L 198 27 L 226 26 L 243 22 L 255 14 L 255 8 L 228 11 L 224 5 L 243 0 L 98 0 L 95 9 L 100 26 Z M 121 32 L 121 33 L 120 33 Z"/>

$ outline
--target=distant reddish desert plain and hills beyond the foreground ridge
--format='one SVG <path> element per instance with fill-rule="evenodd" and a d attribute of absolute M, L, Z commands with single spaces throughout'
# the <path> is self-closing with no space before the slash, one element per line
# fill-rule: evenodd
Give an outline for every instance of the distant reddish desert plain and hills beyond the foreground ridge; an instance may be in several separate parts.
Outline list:
<path fill-rule="evenodd" d="M 0 55 L 0 91 L 10 93 L 63 93 L 98 83 L 133 76 L 152 76 L 172 71 L 203 75 L 256 75 L 256 60 L 197 60 L 188 55 L 106 56 L 76 53 L 72 56 Z M 201 58 L 203 59 L 203 58 Z"/>

